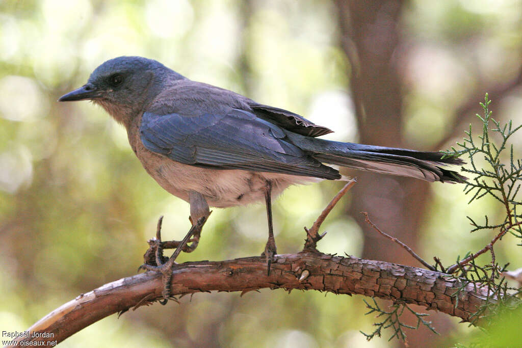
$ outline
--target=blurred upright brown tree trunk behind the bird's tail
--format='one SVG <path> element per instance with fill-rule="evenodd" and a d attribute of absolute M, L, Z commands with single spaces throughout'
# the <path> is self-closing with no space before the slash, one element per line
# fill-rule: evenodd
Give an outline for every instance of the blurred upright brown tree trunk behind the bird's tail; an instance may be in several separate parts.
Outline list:
<path fill-rule="evenodd" d="M 350 65 L 350 89 L 355 105 L 360 142 L 370 145 L 407 147 L 402 126 L 401 78 L 397 49 L 400 44 L 400 0 L 336 0 L 340 39 Z M 419 149 L 422 150 L 422 149 Z M 362 257 L 418 266 L 397 244 L 378 235 L 364 222 L 361 211 L 386 233 L 413 249 L 418 246 L 418 229 L 429 196 L 429 184 L 410 178 L 357 172 L 358 184 L 351 190 L 348 210 L 364 232 Z M 448 329 L 448 321 L 435 318 L 435 328 Z M 441 320 L 436 320 L 441 319 Z M 412 322 L 413 318 L 410 319 Z M 446 323 L 444 323 L 444 321 Z M 408 334 L 410 346 L 425 346 L 427 329 Z M 435 338 L 430 337 L 430 341 Z M 424 343 L 424 344 L 423 344 Z"/>

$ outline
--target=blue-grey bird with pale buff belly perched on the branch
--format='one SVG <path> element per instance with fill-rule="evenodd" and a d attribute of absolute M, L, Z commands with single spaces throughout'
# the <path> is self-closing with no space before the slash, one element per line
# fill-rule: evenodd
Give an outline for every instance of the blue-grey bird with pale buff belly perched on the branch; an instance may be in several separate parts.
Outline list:
<path fill-rule="evenodd" d="M 272 198 L 294 184 L 343 179 L 330 165 L 428 182 L 466 181 L 444 168 L 463 164 L 458 158 L 322 139 L 333 131 L 291 111 L 190 80 L 144 57 L 110 59 L 94 69 L 85 85 L 58 99 L 80 100 L 101 105 L 126 128 L 147 173 L 189 203 L 193 224 L 208 218 L 209 207 L 264 200 L 268 241 L 262 255 L 268 274 L 277 254 Z"/>

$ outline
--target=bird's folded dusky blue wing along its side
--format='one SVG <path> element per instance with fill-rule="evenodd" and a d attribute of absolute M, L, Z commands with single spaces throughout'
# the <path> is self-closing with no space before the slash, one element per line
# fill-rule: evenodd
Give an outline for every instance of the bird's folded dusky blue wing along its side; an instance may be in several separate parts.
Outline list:
<path fill-rule="evenodd" d="M 340 178 L 337 170 L 288 141 L 279 126 L 239 109 L 221 115 L 146 112 L 140 137 L 148 150 L 185 164 Z"/>

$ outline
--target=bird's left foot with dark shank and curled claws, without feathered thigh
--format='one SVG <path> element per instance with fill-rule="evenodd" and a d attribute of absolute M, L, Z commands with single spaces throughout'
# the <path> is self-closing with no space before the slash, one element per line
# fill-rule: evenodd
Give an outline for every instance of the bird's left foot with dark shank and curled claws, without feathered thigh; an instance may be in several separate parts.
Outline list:
<path fill-rule="evenodd" d="M 155 271 L 162 274 L 163 280 L 163 291 L 161 295 L 163 299 L 160 301 L 162 305 L 167 304 L 167 301 L 171 297 L 171 280 L 172 280 L 172 269 L 176 264 L 175 260 L 177 256 L 180 255 L 181 251 L 184 251 L 185 246 L 189 241 L 191 241 L 191 237 L 197 235 L 197 239 L 199 241 L 199 235 L 201 234 L 201 229 L 203 229 L 203 225 L 207 221 L 208 217 L 200 218 L 195 224 L 192 225 L 191 229 L 188 231 L 187 235 L 182 239 L 182 241 L 172 241 L 177 243 L 176 250 L 170 258 L 163 256 L 163 244 L 167 242 L 161 242 L 161 222 L 162 218 L 158 221 L 158 229 L 156 231 L 156 238 L 152 238 L 149 240 L 149 249 L 144 255 L 145 263 L 138 268 L 138 271 L 143 269 L 147 271 Z M 193 250 L 191 250 L 193 251 Z M 152 258 L 152 255 L 154 256 Z"/>

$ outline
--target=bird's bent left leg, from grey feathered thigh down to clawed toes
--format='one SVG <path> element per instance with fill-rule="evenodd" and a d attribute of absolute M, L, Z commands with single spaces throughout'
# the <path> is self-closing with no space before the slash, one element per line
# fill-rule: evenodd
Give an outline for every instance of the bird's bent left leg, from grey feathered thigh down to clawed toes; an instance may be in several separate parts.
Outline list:
<path fill-rule="evenodd" d="M 160 272 L 163 275 L 163 291 L 162 296 L 163 300 L 160 301 L 162 305 L 167 304 L 171 296 L 171 280 L 172 280 L 172 269 L 175 265 L 175 260 L 177 256 L 180 255 L 181 251 L 187 246 L 187 243 L 192 241 L 193 246 L 199 242 L 199 236 L 201 235 L 201 229 L 203 229 L 203 225 L 207 221 L 211 211 L 209 210 L 207 201 L 205 198 L 199 193 L 191 192 L 189 194 L 189 199 L 191 202 L 191 217 L 189 218 L 191 222 L 193 222 L 191 229 L 188 231 L 186 236 L 182 239 L 182 241 L 172 241 L 177 243 L 176 250 L 172 256 L 165 261 L 163 257 L 163 249 L 165 246 L 161 242 L 161 221 L 162 218 L 158 221 L 158 229 L 156 231 L 156 238 L 149 241 L 150 248 L 149 250 L 154 250 L 156 265 L 150 265 L 150 262 L 144 263 L 139 267 L 139 269 L 145 269 L 148 271 L 156 271 Z M 195 221 L 195 222 L 194 222 Z M 192 238 L 192 239 L 191 239 Z M 195 249 L 195 246 L 194 246 Z M 192 251 L 192 250 L 191 250 Z M 149 253 L 149 251 L 147 251 Z M 147 253 L 145 257 L 147 256 Z M 149 253 L 150 254 L 150 253 Z"/>

